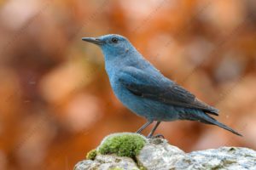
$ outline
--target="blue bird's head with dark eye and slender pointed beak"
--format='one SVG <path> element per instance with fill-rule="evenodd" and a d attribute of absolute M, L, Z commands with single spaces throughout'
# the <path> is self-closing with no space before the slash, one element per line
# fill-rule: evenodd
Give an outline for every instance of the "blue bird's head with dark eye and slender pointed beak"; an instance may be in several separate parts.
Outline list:
<path fill-rule="evenodd" d="M 82 40 L 95 43 L 102 48 L 106 59 L 124 55 L 133 49 L 127 38 L 117 34 L 108 34 L 102 37 L 83 37 Z"/>

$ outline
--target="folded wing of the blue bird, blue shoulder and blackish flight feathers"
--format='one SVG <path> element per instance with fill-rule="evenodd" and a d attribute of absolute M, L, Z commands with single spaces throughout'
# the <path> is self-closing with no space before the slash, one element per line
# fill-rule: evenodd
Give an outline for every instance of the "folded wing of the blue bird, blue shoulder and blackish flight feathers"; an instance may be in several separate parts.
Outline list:
<path fill-rule="evenodd" d="M 132 94 L 157 100 L 167 105 L 200 109 L 218 116 L 218 110 L 195 98 L 194 94 L 162 76 L 160 72 L 127 67 L 119 72 L 119 82 Z"/>

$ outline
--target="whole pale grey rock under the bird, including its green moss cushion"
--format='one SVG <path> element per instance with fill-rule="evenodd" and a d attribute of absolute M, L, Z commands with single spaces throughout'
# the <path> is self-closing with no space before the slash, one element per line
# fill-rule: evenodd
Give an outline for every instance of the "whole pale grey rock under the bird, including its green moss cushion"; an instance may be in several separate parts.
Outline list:
<path fill-rule="evenodd" d="M 131 139 L 127 137 L 131 137 Z M 105 141 L 108 141 L 108 143 L 106 144 Z M 145 143 L 143 144 L 142 141 L 145 141 Z M 111 153 L 108 154 L 107 152 L 104 152 L 104 154 L 108 155 L 102 155 L 98 150 L 99 148 L 102 150 L 102 146 L 106 147 L 107 145 L 108 148 L 103 148 L 103 150 L 110 150 L 109 148 L 111 148 Z M 131 148 L 129 149 L 127 146 Z M 138 149 L 139 151 L 137 152 Z M 74 169 L 256 170 L 255 150 L 240 147 L 222 147 L 219 149 L 199 150 L 185 153 L 176 146 L 168 144 L 166 139 L 145 139 L 134 133 L 116 133 L 110 135 L 102 141 L 102 144 L 96 150 L 96 157 L 94 160 L 79 161 Z M 131 152 L 131 154 L 127 155 L 129 152 Z M 131 157 L 120 156 L 124 155 L 123 153 Z M 137 156 L 134 156 L 134 153 L 137 153 Z"/>

